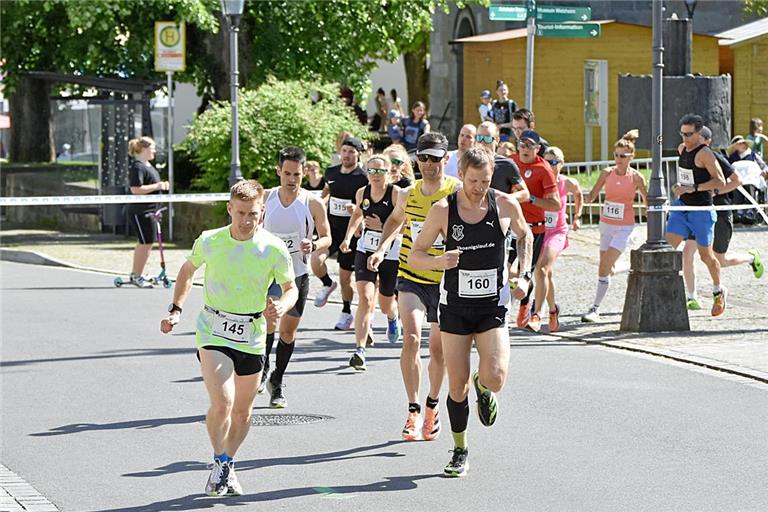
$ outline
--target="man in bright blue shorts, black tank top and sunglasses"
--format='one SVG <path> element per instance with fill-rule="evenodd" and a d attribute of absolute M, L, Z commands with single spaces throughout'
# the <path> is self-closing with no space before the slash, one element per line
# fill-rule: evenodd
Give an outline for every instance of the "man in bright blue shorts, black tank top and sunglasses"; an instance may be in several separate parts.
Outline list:
<path fill-rule="evenodd" d="M 680 136 L 683 144 L 677 163 L 677 183 L 672 191 L 677 196 L 673 206 L 712 207 L 716 189 L 726 186 L 723 171 L 712 150 L 701 141 L 699 132 L 704 126 L 701 116 L 686 114 L 680 119 Z M 677 248 L 690 235 L 696 237 L 701 261 L 712 276 L 712 316 L 725 312 L 728 291 L 720 285 L 720 262 L 715 257 L 712 244 L 715 239 L 714 209 L 692 208 L 672 211 L 667 220 L 667 242 Z"/>

